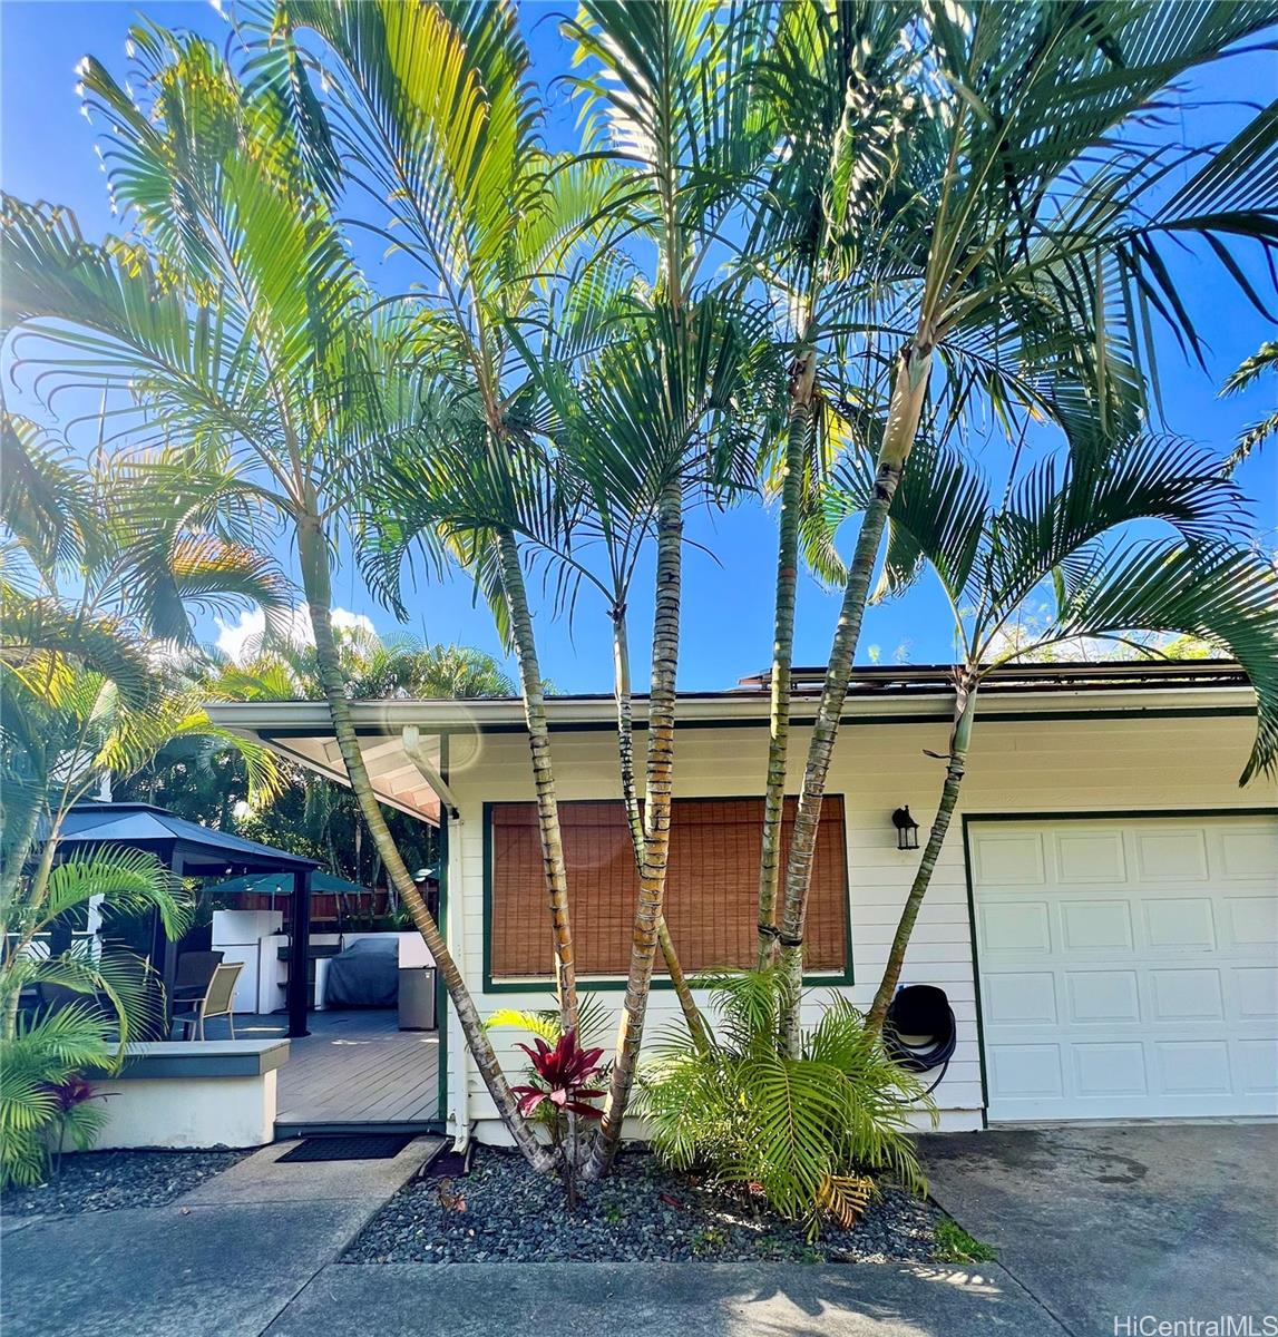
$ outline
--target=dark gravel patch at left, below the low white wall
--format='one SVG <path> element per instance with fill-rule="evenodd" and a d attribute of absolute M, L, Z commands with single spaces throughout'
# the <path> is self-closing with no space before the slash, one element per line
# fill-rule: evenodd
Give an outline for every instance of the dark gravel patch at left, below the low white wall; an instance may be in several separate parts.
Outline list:
<path fill-rule="evenodd" d="M 35 1189 L 5 1189 L 5 1215 L 71 1217 L 82 1211 L 163 1207 L 230 1170 L 247 1151 L 84 1151 Z"/>

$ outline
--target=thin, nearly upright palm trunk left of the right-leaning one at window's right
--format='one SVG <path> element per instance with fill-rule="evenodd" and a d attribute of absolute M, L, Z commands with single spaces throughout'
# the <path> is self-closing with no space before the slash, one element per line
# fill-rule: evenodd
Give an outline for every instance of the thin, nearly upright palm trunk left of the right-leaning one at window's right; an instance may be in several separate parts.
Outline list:
<path fill-rule="evenodd" d="M 777 956 L 777 892 L 781 884 L 781 824 L 786 804 L 786 757 L 790 746 L 790 667 L 794 656 L 794 599 L 798 587 L 799 496 L 811 427 L 817 354 L 809 349 L 790 373 L 790 422 L 781 523 L 777 543 L 777 603 L 773 622 L 771 713 L 767 742 L 767 789 L 763 794 L 763 853 L 759 858 L 759 969 Z"/>

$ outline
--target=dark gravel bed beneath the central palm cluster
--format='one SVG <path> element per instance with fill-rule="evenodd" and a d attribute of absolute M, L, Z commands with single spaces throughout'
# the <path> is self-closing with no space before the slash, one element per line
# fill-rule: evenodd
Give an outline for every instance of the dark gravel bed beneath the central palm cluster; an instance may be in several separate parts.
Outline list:
<path fill-rule="evenodd" d="M 442 1186 L 442 1187 L 441 1187 Z M 802 1226 L 627 1151 L 569 1217 L 557 1179 L 515 1152 L 477 1148 L 471 1174 L 417 1179 L 364 1227 L 342 1262 L 924 1262 L 936 1210 L 886 1187 L 852 1230 Z"/>

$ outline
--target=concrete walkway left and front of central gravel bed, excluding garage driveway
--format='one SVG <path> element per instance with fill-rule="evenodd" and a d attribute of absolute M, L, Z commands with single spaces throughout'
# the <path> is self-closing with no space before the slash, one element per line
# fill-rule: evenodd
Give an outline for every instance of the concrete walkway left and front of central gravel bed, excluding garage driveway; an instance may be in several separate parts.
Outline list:
<path fill-rule="evenodd" d="M 15 1221 L 4 1337 L 1065 1337 L 997 1266 L 337 1262 L 432 1147 L 278 1144 L 167 1207 Z"/>

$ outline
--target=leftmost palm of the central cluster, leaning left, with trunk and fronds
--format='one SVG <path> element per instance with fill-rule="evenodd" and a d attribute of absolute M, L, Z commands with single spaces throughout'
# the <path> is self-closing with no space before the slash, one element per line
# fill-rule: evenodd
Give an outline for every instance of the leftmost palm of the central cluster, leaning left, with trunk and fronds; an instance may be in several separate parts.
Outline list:
<path fill-rule="evenodd" d="M 402 328 L 369 312 L 321 189 L 332 183 L 332 155 L 313 154 L 287 120 L 298 90 L 290 84 L 283 96 L 266 78 L 270 68 L 242 86 L 194 37 L 146 27 L 134 29 L 132 43 L 139 68 L 128 90 L 92 59 L 82 76 L 90 108 L 112 131 L 106 159 L 115 198 L 134 211 L 147 243 L 92 246 L 64 211 L 8 201 L 5 328 L 74 350 L 82 382 L 132 388 L 132 439 L 163 447 L 148 468 L 167 496 L 242 523 L 289 525 L 317 668 L 364 820 L 497 1110 L 529 1161 L 548 1167 L 381 814 L 333 634 L 333 529 L 350 512 L 370 445 L 394 429 L 388 412 L 409 402 L 392 389 L 401 385 Z M 456 32 L 438 23 L 429 49 L 461 59 Z M 469 98 L 477 76 L 460 78 Z"/>

